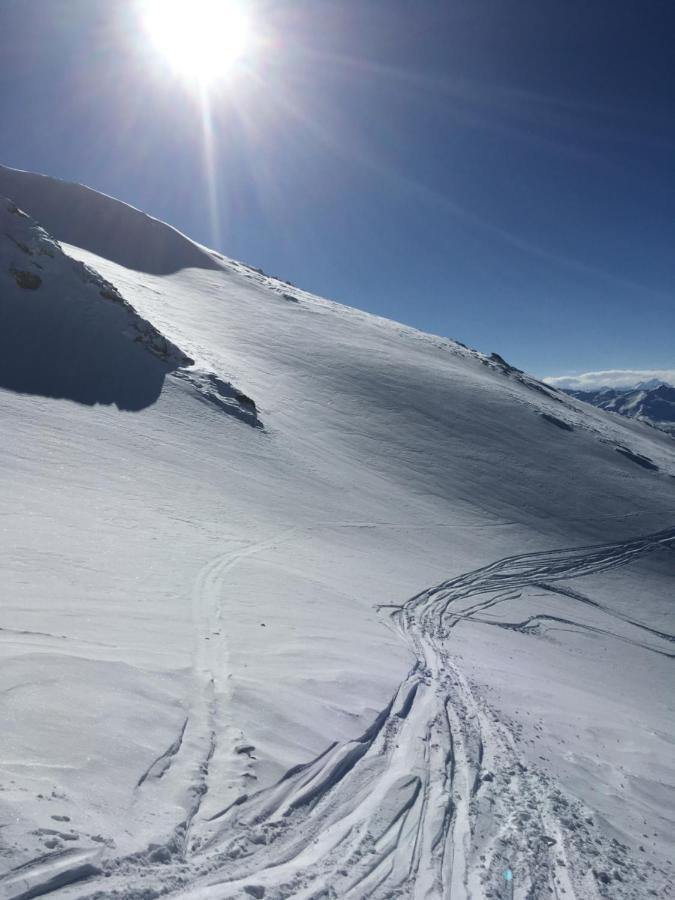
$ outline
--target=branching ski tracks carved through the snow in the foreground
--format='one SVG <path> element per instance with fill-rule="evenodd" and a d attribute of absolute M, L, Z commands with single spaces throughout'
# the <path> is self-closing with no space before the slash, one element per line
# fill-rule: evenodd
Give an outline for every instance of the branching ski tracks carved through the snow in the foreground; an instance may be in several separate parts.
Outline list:
<path fill-rule="evenodd" d="M 217 791 L 209 782 L 209 765 L 227 729 L 224 578 L 239 560 L 292 531 L 223 554 L 198 578 L 193 706 L 176 742 L 139 780 L 142 789 L 172 765 L 192 770 L 186 818 L 162 855 L 153 845 L 154 850 L 106 860 L 100 868 L 83 867 L 78 858 L 72 877 L 63 854 L 43 857 L 35 861 L 34 876 L 31 864 L 9 874 L 8 897 L 60 889 L 69 897 L 144 900 L 166 893 L 267 900 L 498 898 L 509 896 L 502 880 L 507 866 L 516 875 L 516 900 L 667 895 L 667 873 L 636 862 L 628 848 L 597 828 L 587 808 L 521 762 L 512 733 L 453 663 L 450 645 L 453 628 L 471 619 L 525 633 L 554 620 L 475 618 L 532 586 L 598 607 L 672 643 L 672 635 L 554 583 L 675 549 L 675 528 L 618 544 L 509 557 L 425 590 L 402 606 L 381 607 L 389 610 L 415 663 L 372 725 L 361 737 L 331 745 L 276 784 L 241 795 L 206 818 L 200 815 L 203 796 Z M 463 605 L 473 597 L 481 599 Z M 589 629 L 573 620 L 552 624 Z M 663 647 L 640 645 L 666 653 Z M 84 880 L 72 884 L 78 879 Z"/>

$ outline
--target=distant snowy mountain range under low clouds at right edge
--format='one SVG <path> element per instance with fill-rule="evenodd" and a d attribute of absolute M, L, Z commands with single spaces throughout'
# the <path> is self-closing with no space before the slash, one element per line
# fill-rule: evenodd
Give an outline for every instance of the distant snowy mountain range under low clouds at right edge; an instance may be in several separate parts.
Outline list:
<path fill-rule="evenodd" d="M 600 388 L 565 393 L 600 409 L 639 419 L 675 437 L 675 387 L 663 381 L 643 381 L 634 388 Z"/>

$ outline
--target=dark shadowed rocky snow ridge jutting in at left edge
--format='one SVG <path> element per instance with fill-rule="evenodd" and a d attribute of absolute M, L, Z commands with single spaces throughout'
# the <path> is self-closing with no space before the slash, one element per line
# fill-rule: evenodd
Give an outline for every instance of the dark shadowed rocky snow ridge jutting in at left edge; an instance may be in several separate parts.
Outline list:
<path fill-rule="evenodd" d="M 137 411 L 173 374 L 259 424 L 255 404 L 142 318 L 117 288 L 72 259 L 13 200 L 0 198 L 0 387 Z"/>

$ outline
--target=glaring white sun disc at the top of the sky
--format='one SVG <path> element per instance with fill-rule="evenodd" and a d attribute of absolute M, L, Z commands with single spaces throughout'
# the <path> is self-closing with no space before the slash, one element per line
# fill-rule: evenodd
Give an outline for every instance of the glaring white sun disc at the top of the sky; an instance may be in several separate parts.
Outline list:
<path fill-rule="evenodd" d="M 202 86 L 230 75 L 250 47 L 243 0 L 143 0 L 141 15 L 155 48 Z"/>

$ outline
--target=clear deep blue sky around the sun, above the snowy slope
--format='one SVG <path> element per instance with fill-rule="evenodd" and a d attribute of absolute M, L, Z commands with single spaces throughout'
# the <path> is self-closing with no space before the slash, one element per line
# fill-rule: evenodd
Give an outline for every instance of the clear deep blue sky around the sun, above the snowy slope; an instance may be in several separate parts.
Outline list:
<path fill-rule="evenodd" d="M 251 0 L 217 249 L 538 375 L 675 363 L 672 0 Z M 0 0 L 0 162 L 213 245 L 133 0 Z"/>

